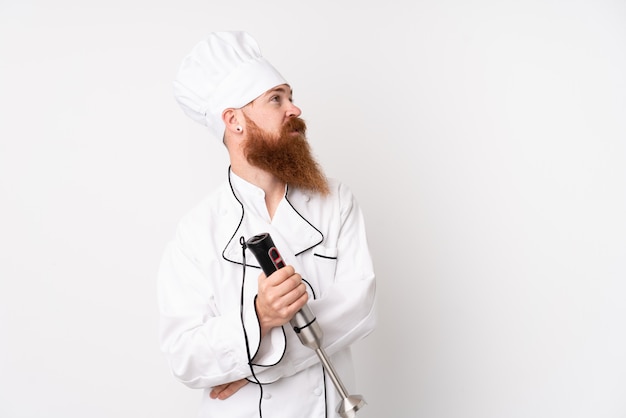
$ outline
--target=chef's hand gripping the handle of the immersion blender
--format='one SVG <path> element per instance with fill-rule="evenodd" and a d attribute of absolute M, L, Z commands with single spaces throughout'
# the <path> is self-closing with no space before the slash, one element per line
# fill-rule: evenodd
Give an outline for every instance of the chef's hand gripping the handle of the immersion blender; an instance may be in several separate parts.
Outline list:
<path fill-rule="evenodd" d="M 276 270 L 267 278 L 261 273 L 258 292 L 256 310 L 261 324 L 261 336 L 265 336 L 272 328 L 289 322 L 309 299 L 306 284 L 293 266 Z"/>

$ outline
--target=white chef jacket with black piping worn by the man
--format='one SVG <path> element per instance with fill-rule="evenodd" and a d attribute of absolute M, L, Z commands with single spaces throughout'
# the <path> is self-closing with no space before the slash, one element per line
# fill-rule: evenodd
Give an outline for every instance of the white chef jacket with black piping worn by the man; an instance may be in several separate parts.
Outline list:
<path fill-rule="evenodd" d="M 375 326 L 375 278 L 361 210 L 345 185 L 331 179 L 330 188 L 322 197 L 287 187 L 270 219 L 263 190 L 229 170 L 229 181 L 179 223 L 158 276 L 160 341 L 173 375 L 204 389 L 199 417 L 258 417 L 259 409 L 264 418 L 337 416 L 335 386 L 289 324 L 260 340 L 261 270 L 249 250 L 244 268 L 241 240 L 263 232 L 306 281 L 322 346 L 354 393 L 349 346 Z M 251 383 L 210 399 L 213 386 L 241 378 Z"/>

